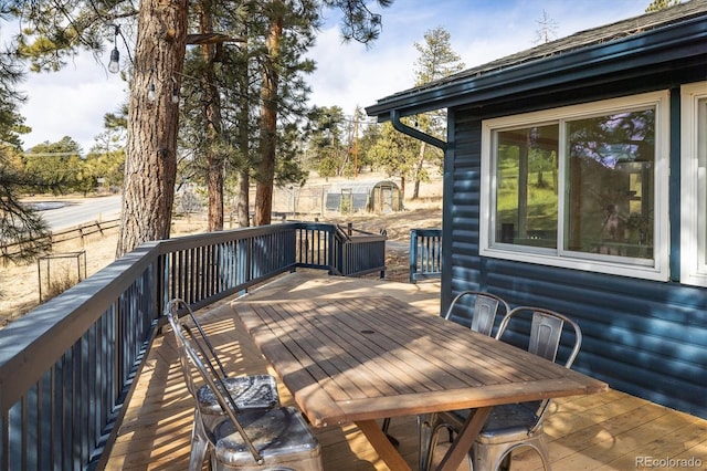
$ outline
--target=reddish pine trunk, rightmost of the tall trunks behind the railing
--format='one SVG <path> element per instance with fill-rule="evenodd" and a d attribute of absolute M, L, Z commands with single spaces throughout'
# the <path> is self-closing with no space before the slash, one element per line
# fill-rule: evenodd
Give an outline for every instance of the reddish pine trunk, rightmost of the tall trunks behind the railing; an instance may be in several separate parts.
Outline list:
<path fill-rule="evenodd" d="M 277 139 L 277 84 L 279 81 L 279 39 L 283 34 L 283 4 L 270 2 L 271 25 L 267 35 L 267 57 L 264 61 L 261 98 L 261 160 L 256 169 L 254 226 L 270 224 L 273 216 L 273 185 Z"/>

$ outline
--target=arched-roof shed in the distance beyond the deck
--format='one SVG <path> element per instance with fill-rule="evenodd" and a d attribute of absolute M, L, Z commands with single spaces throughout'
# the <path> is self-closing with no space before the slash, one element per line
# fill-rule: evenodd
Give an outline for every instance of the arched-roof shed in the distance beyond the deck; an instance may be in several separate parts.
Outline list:
<path fill-rule="evenodd" d="M 402 193 L 390 180 L 341 181 L 327 191 L 327 211 L 388 213 L 402 209 Z"/>

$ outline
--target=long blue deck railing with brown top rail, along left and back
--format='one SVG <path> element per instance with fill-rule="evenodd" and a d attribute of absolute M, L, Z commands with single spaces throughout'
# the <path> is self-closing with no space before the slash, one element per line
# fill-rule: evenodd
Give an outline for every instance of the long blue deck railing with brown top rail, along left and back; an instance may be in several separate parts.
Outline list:
<path fill-rule="evenodd" d="M 384 271 L 386 237 L 339 230 L 293 222 L 146 243 L 0 331 L 0 470 L 99 465 L 169 299 L 198 308 L 302 266 Z"/>

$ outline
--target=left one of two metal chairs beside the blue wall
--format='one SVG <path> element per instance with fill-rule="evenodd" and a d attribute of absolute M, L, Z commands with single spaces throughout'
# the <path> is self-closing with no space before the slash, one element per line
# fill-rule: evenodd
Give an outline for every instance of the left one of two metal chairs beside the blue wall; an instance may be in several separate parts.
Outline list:
<path fill-rule="evenodd" d="M 464 312 L 472 308 L 469 328 L 474 332 L 490 336 L 494 329 L 497 315 L 506 316 L 510 313 L 510 305 L 500 296 L 482 291 L 467 290 L 458 293 L 450 303 L 450 307 L 444 314 L 445 320 L 452 320 L 453 315 L 468 317 Z M 499 312 L 500 308 L 500 312 Z M 439 440 L 442 429 L 450 430 L 450 441 L 452 438 L 452 427 L 446 423 L 447 418 L 440 414 L 425 414 L 418 416 L 418 440 L 420 450 L 420 469 L 429 469 L 432 463 L 432 452 Z"/>

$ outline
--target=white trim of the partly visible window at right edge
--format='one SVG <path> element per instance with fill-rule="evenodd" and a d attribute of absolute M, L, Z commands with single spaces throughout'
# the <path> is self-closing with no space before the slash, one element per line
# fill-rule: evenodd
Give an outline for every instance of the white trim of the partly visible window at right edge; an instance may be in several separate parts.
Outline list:
<path fill-rule="evenodd" d="M 700 100 L 707 100 L 707 82 L 680 87 L 680 282 L 707 286 L 707 208 L 698 203 L 707 199 L 706 169 L 698 161 Z"/>

